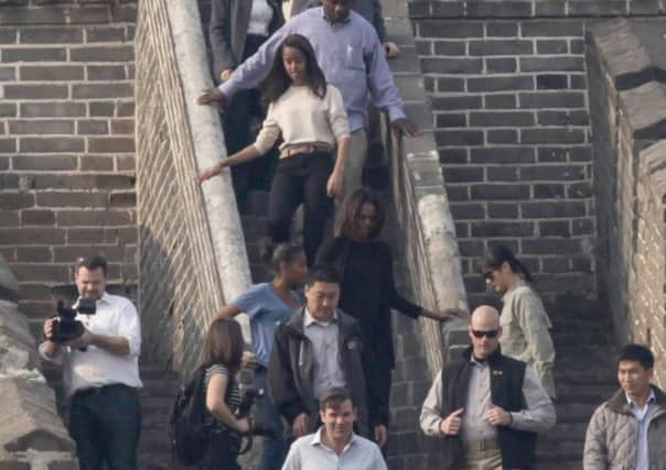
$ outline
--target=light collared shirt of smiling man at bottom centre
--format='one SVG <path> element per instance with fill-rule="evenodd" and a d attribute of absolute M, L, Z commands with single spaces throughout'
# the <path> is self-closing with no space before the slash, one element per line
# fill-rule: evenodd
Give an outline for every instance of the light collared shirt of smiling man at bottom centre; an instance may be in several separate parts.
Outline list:
<path fill-rule="evenodd" d="M 322 441 L 323 431 L 321 427 L 316 433 L 297 439 L 282 470 L 386 470 L 382 451 L 372 440 L 352 434 L 339 456 Z"/>

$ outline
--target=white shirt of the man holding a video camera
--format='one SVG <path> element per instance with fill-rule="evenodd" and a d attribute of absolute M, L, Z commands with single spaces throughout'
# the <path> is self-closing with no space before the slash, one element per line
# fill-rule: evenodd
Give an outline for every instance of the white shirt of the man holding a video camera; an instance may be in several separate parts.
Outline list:
<path fill-rule="evenodd" d="M 111 384 L 141 387 L 139 353 L 141 352 L 141 325 L 133 304 L 118 295 L 104 293 L 97 300 L 95 315 L 77 315 L 76 319 L 95 335 L 121 336 L 129 343 L 129 354 L 116 356 L 95 346 L 85 351 L 62 347 L 50 358 L 40 345 L 40 354 L 47 361 L 63 367 L 63 382 L 67 395 L 79 390 Z"/>

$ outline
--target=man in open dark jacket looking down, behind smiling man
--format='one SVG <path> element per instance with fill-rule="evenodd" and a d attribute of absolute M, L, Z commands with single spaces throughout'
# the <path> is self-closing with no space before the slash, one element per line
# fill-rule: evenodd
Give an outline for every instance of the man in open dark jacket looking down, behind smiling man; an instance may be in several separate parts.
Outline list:
<path fill-rule="evenodd" d="M 307 306 L 276 331 L 268 363 L 271 400 L 291 426 L 293 437 L 319 427 L 319 395 L 332 386 L 346 387 L 356 405 L 358 434 L 386 440 L 386 416 L 373 400 L 373 365 L 358 321 L 337 309 L 340 280 L 325 266 L 310 270 Z"/>

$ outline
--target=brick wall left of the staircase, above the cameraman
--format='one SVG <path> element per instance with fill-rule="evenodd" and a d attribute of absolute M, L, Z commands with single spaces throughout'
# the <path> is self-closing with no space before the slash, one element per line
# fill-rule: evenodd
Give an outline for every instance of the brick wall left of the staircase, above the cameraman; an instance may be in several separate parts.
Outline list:
<path fill-rule="evenodd" d="M 0 249 L 32 318 L 82 254 L 133 293 L 135 18 L 136 1 L 0 1 Z"/>

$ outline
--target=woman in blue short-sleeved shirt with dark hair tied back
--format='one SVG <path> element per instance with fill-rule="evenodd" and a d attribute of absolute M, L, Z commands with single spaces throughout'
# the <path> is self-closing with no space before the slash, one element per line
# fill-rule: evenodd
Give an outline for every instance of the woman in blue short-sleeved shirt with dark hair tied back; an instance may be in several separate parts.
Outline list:
<path fill-rule="evenodd" d="M 224 306 L 217 317 L 230 318 L 246 313 L 250 319 L 253 353 L 255 361 L 255 386 L 266 390 L 266 368 L 270 357 L 273 336 L 279 323 L 287 320 L 301 307 L 293 286 L 303 282 L 308 271 L 303 247 L 296 243 L 278 244 L 271 255 L 270 267 L 273 278 L 268 283 L 251 286 L 232 304 Z M 287 453 L 282 438 L 282 418 L 267 395 L 257 404 L 259 422 L 275 430 L 276 438 L 264 440 L 259 470 L 279 469 Z"/>

